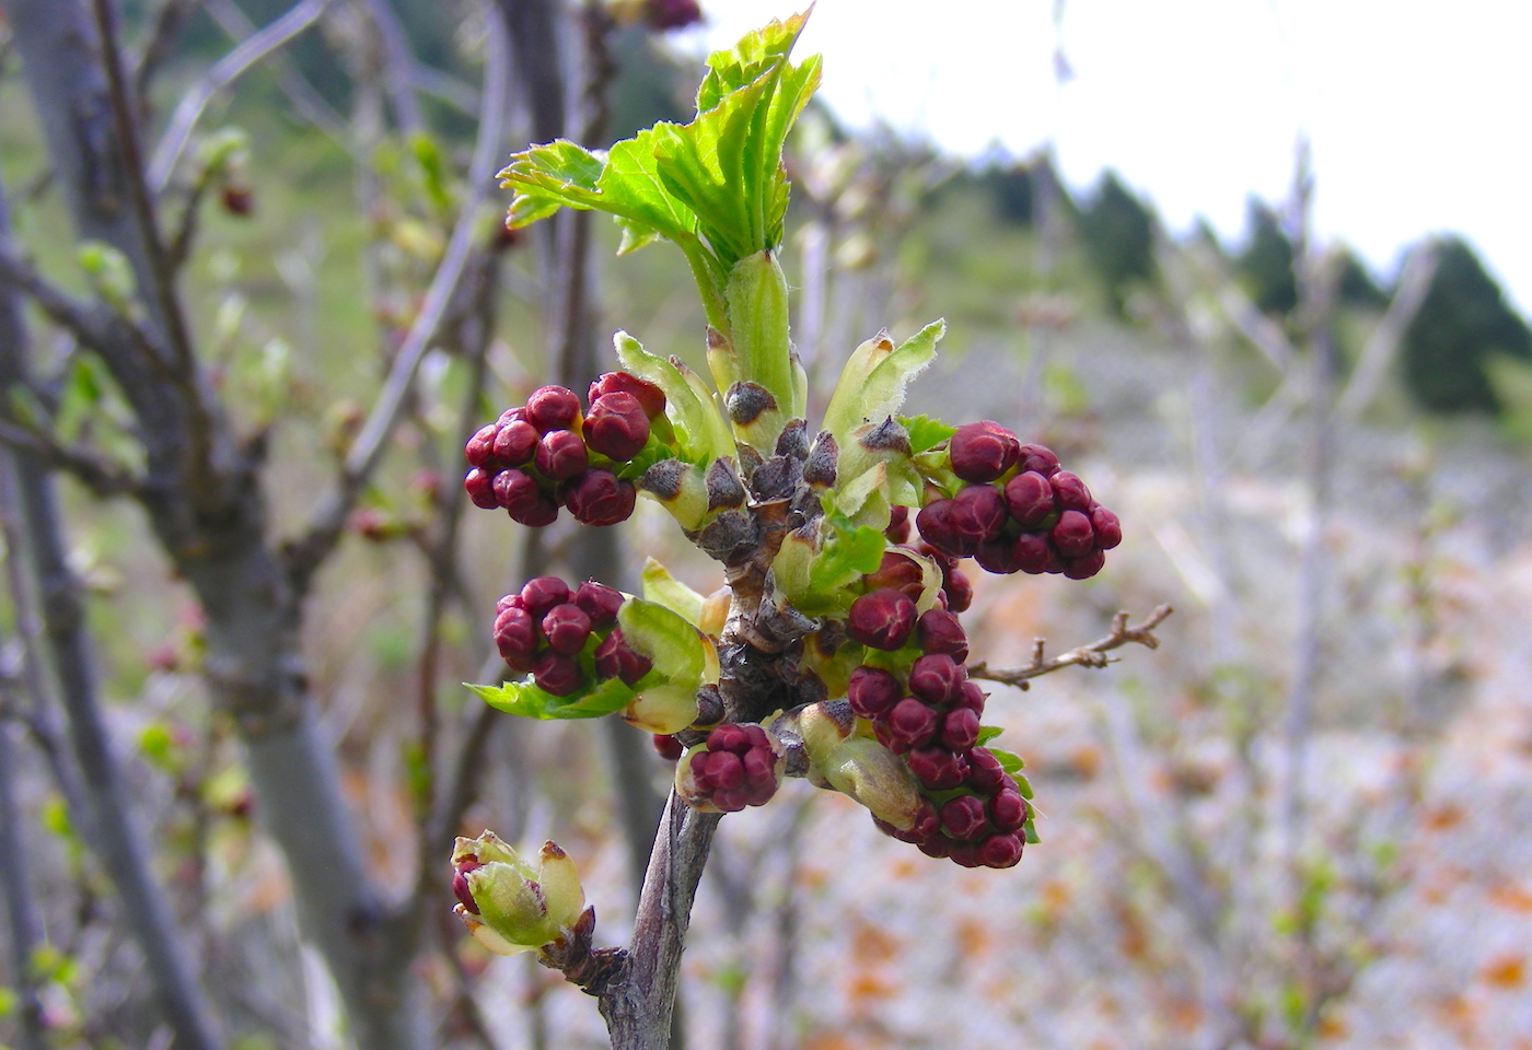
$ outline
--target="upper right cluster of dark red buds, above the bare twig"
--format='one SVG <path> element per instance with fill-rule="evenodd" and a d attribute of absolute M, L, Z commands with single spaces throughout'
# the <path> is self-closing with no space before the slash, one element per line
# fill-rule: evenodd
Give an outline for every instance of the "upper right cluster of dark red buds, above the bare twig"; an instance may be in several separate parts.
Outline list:
<path fill-rule="evenodd" d="M 968 482 L 951 499 L 921 508 L 921 539 L 991 572 L 1095 576 L 1123 540 L 1117 514 L 1091 497 L 1079 476 L 1059 468 L 1046 445 L 1023 445 L 996 422 L 958 427 L 947 452 Z"/>

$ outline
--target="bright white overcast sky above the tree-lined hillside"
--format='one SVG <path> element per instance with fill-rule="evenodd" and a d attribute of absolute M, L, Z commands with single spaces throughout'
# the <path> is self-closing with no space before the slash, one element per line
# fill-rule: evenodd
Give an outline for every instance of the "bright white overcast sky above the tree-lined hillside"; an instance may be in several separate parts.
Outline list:
<path fill-rule="evenodd" d="M 700 51 L 801 0 L 703 0 Z M 818 0 L 795 54 L 820 95 L 979 155 L 1052 136 L 1080 188 L 1115 168 L 1174 230 L 1226 237 L 1246 199 L 1279 201 L 1299 129 L 1321 231 L 1382 276 L 1423 234 L 1474 243 L 1532 312 L 1532 5 L 1517 0 Z M 1060 89 L 1062 41 L 1074 77 Z"/>

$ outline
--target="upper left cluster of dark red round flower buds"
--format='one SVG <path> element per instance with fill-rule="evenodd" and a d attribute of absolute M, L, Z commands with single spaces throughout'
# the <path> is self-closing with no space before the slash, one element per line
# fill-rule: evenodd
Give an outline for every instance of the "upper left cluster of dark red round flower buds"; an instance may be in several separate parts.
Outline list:
<path fill-rule="evenodd" d="M 625 372 L 591 384 L 584 415 L 573 390 L 541 387 L 469 438 L 463 487 L 476 507 L 502 507 L 522 525 L 552 525 L 561 505 L 585 525 L 616 525 L 633 514 L 637 490 L 613 464 L 643 450 L 663 412 L 665 393 Z"/>

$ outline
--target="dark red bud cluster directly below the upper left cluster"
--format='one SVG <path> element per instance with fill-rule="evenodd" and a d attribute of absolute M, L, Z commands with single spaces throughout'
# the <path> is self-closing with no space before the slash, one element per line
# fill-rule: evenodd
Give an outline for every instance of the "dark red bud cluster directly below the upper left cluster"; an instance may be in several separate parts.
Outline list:
<path fill-rule="evenodd" d="M 622 678 L 628 686 L 650 661 L 622 641 L 620 591 L 585 580 L 578 589 L 556 576 L 539 576 L 495 606 L 495 647 L 512 670 L 532 672 L 538 689 L 568 696 L 590 680 Z M 591 637 L 594 651 L 587 655 Z M 584 658 L 584 660 L 582 660 Z"/>

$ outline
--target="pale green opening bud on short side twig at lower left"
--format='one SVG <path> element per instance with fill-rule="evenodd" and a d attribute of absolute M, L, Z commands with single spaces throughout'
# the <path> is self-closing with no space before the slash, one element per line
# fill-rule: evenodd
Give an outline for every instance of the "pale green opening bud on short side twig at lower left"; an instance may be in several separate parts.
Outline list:
<path fill-rule="evenodd" d="M 565 937 L 585 911 L 574 862 L 547 842 L 536 865 L 492 831 L 452 849 L 453 909 L 480 944 L 515 955 Z"/>

